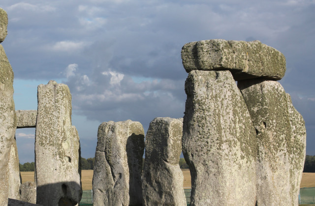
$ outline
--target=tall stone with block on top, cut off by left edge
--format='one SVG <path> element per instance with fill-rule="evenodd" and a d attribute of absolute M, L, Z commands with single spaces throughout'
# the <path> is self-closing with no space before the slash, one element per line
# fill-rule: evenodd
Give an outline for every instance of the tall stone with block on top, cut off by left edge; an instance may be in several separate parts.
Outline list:
<path fill-rule="evenodd" d="M 8 18 L 0 8 L 0 43 L 7 34 Z M 20 199 L 19 158 L 16 150 L 16 115 L 13 101 L 13 70 L 0 45 L 0 206 L 8 198 Z"/>

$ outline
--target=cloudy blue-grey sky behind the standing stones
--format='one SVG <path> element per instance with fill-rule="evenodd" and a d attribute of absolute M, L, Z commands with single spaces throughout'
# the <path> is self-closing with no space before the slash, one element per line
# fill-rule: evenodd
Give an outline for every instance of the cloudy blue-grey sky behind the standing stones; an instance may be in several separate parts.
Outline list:
<path fill-rule="evenodd" d="M 303 115 L 315 155 L 315 0 L 1 0 L 1 43 L 14 72 L 15 109 L 37 109 L 37 85 L 67 84 L 82 156 L 102 122 L 184 116 L 184 44 L 259 40 L 282 52 L 280 83 Z M 20 162 L 34 161 L 34 129 L 17 129 Z"/>

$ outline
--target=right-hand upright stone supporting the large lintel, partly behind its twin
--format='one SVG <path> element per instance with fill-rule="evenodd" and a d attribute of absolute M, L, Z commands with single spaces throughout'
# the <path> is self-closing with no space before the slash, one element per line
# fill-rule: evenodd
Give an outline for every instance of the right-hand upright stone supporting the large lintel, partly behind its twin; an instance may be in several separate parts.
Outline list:
<path fill-rule="evenodd" d="M 277 81 L 238 81 L 256 130 L 257 206 L 298 205 L 306 130 Z"/>

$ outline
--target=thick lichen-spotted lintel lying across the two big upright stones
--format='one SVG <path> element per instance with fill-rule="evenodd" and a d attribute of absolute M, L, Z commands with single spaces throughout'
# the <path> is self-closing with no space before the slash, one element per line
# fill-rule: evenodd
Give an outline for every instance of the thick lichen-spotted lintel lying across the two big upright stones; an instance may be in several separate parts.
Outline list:
<path fill-rule="evenodd" d="M 203 40 L 182 48 L 186 72 L 192 70 L 230 70 L 235 80 L 266 77 L 281 79 L 285 57 L 259 41 Z"/>

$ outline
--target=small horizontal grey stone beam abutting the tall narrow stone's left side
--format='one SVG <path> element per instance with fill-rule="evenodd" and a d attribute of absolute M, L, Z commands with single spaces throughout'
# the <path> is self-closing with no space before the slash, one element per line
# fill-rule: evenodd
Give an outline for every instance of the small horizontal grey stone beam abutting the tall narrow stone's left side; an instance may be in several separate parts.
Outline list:
<path fill-rule="evenodd" d="M 36 127 L 37 110 L 15 110 L 17 128 Z"/>

